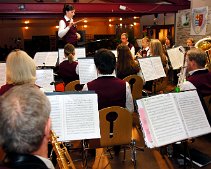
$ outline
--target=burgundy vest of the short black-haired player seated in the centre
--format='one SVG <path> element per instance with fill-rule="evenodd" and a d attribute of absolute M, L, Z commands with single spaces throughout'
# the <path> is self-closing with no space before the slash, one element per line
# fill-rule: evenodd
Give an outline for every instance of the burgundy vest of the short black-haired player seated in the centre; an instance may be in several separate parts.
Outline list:
<path fill-rule="evenodd" d="M 110 106 L 126 107 L 126 82 L 111 76 L 99 77 L 87 83 L 88 90 L 98 95 L 98 110 Z"/>

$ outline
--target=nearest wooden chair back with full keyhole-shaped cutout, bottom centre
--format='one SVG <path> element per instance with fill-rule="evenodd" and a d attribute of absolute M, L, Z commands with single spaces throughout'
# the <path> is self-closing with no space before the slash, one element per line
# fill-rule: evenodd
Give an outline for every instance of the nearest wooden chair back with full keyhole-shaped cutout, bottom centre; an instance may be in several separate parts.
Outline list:
<path fill-rule="evenodd" d="M 120 106 L 101 109 L 100 146 L 130 144 L 132 137 L 132 114 Z"/>

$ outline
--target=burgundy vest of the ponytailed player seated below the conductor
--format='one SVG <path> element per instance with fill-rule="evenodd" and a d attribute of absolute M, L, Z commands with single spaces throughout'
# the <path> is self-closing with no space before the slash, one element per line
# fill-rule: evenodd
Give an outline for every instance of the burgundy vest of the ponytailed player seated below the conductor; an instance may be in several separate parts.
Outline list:
<path fill-rule="evenodd" d="M 64 81 L 65 85 L 74 80 L 78 80 L 79 76 L 76 74 L 75 68 L 78 62 L 70 63 L 68 60 L 63 61 L 59 65 L 59 75 Z"/>

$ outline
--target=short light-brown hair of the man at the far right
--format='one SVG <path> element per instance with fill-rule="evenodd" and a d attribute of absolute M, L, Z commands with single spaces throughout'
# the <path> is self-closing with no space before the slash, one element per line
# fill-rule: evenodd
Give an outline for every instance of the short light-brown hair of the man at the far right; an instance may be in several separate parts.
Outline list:
<path fill-rule="evenodd" d="M 191 48 L 187 52 L 188 60 L 195 61 L 198 68 L 204 68 L 207 63 L 207 54 L 199 48 Z"/>

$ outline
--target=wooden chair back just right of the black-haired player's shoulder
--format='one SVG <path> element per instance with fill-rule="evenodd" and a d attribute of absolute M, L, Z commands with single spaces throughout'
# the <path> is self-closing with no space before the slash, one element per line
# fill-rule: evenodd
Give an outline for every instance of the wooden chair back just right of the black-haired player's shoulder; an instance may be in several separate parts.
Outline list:
<path fill-rule="evenodd" d="M 141 76 L 129 75 L 123 80 L 127 81 L 130 84 L 133 100 L 140 99 L 142 97 L 142 89 L 144 83 Z"/>

